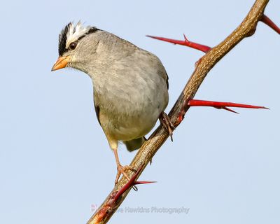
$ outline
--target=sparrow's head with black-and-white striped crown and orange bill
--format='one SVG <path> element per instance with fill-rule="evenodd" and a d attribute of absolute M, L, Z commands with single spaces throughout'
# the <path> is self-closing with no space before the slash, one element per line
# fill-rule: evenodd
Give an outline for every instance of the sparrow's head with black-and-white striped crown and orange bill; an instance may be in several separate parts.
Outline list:
<path fill-rule="evenodd" d="M 86 62 L 94 57 L 99 43 L 95 34 L 100 31 L 96 27 L 83 27 L 78 22 L 70 22 L 59 34 L 57 62 L 52 66 L 52 71 L 72 67 L 85 71 Z"/>

